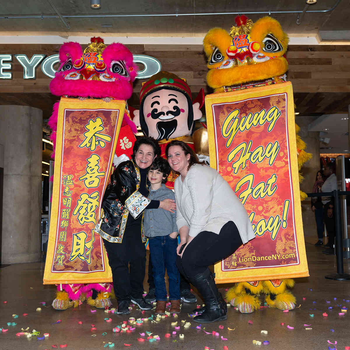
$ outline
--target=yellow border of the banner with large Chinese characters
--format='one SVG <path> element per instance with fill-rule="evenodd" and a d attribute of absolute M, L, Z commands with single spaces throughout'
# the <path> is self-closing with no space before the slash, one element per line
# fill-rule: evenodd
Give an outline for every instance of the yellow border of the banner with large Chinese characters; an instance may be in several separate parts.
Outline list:
<path fill-rule="evenodd" d="M 49 238 L 48 238 L 48 247 L 46 254 L 45 270 L 43 284 L 68 284 L 68 283 L 99 283 L 99 282 L 112 282 L 112 273 L 111 268 L 108 264 L 107 254 L 102 242 L 102 238 L 98 236 L 101 240 L 101 245 L 103 249 L 103 258 L 105 264 L 105 271 L 96 271 L 96 272 L 51 272 L 52 259 L 55 259 L 55 243 L 57 237 L 57 221 L 58 221 L 58 210 L 59 210 L 59 191 L 61 186 L 55 186 L 57 183 L 60 183 L 61 175 L 61 155 L 62 155 L 62 134 L 63 134 L 63 119 L 59 119 L 60 115 L 63 115 L 65 109 L 109 109 L 109 110 L 119 110 L 118 122 L 116 128 L 116 136 L 113 142 L 112 148 L 112 157 L 108 169 L 112 168 L 113 154 L 116 152 L 116 147 L 118 143 L 118 136 L 123 122 L 123 116 L 125 111 L 126 102 L 124 100 L 111 100 L 111 102 L 104 102 L 100 99 L 86 99 L 80 101 L 77 98 L 66 98 L 61 97 L 59 102 L 58 109 L 58 120 L 57 120 L 57 133 L 56 133 L 56 148 L 55 148 L 55 166 L 54 166 L 54 186 L 52 188 L 52 204 L 51 204 L 51 217 L 50 217 L 50 228 L 49 228 Z M 123 107 L 124 106 L 124 107 Z M 108 178 L 110 173 L 108 174 Z M 108 181 L 106 182 L 108 183 Z M 100 208 L 99 208 L 100 209 Z M 99 210 L 98 209 L 98 210 Z M 50 234 L 54 232 L 54 234 Z M 76 277 L 74 277 L 76 275 Z"/>

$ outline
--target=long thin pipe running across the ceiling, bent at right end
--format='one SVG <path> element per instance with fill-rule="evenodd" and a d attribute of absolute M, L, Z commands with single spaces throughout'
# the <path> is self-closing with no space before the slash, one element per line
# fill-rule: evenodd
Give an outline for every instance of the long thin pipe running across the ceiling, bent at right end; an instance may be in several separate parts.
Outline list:
<path fill-rule="evenodd" d="M 49 1 L 49 0 L 48 0 Z M 335 5 L 331 8 L 325 9 L 325 10 L 305 10 L 305 8 L 300 10 L 287 10 L 287 11 L 239 11 L 239 12 L 210 12 L 210 13 L 167 13 L 167 14 L 128 14 L 128 15 L 121 15 L 121 14 L 97 14 L 97 15 L 61 15 L 62 18 L 94 18 L 94 17 L 166 17 L 166 16 L 213 16 L 213 15 L 241 15 L 242 13 L 249 15 L 249 14 L 277 14 L 277 13 L 303 13 L 305 10 L 305 13 L 326 13 L 333 11 L 341 2 L 341 0 L 337 0 Z M 22 16 L 0 16 L 0 19 L 21 19 L 21 18 L 61 18 L 60 16 L 56 15 L 22 15 Z M 61 20 L 63 20 L 61 18 Z M 65 22 L 64 22 L 65 23 Z M 67 27 L 68 24 L 65 23 L 65 26 Z M 68 27 L 67 27 L 68 28 Z M 69 29 L 69 28 L 68 28 Z"/>

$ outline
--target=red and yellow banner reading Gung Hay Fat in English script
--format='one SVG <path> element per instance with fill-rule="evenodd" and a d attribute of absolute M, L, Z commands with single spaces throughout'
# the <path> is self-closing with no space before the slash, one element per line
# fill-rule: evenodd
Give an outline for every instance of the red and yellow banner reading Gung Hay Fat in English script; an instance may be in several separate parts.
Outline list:
<path fill-rule="evenodd" d="M 215 264 L 216 282 L 308 276 L 292 84 L 210 94 L 205 110 L 210 166 L 243 203 L 255 232 Z"/>

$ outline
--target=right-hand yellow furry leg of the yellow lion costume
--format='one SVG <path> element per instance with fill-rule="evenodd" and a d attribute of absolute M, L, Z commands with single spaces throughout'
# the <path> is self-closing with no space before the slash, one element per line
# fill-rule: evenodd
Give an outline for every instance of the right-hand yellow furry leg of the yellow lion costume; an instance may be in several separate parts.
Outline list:
<path fill-rule="evenodd" d="M 292 288 L 292 279 L 262 281 L 266 293 L 266 303 L 270 307 L 280 310 L 293 310 L 295 308 L 295 296 L 287 290 Z"/>

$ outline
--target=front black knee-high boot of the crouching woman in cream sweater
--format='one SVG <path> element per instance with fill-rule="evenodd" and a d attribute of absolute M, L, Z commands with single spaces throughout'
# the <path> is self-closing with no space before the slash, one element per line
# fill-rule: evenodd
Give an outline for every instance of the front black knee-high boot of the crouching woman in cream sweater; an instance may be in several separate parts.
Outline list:
<path fill-rule="evenodd" d="M 214 276 L 209 268 L 203 273 L 198 273 L 194 277 L 189 277 L 190 282 L 202 294 L 205 302 L 205 308 L 201 315 L 193 318 L 193 321 L 200 323 L 210 323 L 214 321 L 226 320 L 226 309 L 222 304 L 222 296 L 220 296 Z M 197 311 L 198 312 L 198 311 Z"/>

